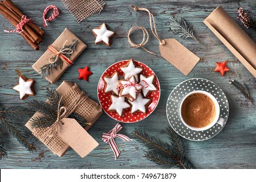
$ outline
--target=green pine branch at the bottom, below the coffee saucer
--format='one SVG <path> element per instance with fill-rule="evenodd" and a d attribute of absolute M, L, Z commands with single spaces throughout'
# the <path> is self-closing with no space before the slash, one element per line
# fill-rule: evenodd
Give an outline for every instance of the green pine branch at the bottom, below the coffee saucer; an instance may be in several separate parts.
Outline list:
<path fill-rule="evenodd" d="M 140 129 L 135 129 L 135 136 L 143 142 L 148 151 L 145 157 L 164 168 L 194 168 L 193 164 L 185 157 L 185 147 L 182 138 L 177 135 L 170 127 L 167 128 L 170 144 L 152 136 Z"/>

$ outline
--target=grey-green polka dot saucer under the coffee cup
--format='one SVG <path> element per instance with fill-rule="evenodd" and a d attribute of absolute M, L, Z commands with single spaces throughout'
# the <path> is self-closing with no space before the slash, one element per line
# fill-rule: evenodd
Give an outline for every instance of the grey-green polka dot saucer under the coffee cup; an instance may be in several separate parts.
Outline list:
<path fill-rule="evenodd" d="M 182 99 L 194 90 L 204 90 L 212 94 L 218 101 L 220 107 L 220 116 L 224 118 L 223 125 L 215 124 L 210 129 L 204 131 L 194 131 L 187 128 L 180 120 L 179 107 Z M 186 138 L 187 140 L 202 141 L 208 140 L 216 136 L 225 126 L 229 117 L 229 102 L 224 92 L 212 81 L 207 79 L 188 79 L 172 90 L 167 100 L 167 118 L 172 129 L 178 133 L 178 135 Z"/>

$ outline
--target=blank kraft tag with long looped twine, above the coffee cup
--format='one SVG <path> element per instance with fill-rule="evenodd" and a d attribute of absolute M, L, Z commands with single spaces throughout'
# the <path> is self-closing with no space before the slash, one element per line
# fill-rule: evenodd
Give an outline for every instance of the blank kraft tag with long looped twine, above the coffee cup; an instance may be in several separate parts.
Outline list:
<path fill-rule="evenodd" d="M 155 38 L 157 38 L 157 40 L 159 41 L 159 51 L 161 53 L 161 57 L 170 62 L 170 64 L 172 64 L 180 72 L 184 73 L 184 75 L 188 75 L 189 72 L 191 72 L 191 70 L 195 67 L 197 62 L 199 62 L 200 58 L 197 57 L 197 55 L 195 55 L 191 51 L 189 51 L 189 49 L 187 49 L 184 45 L 180 44 L 180 42 L 178 42 L 178 40 L 176 40 L 175 38 L 168 38 L 165 40 L 159 38 L 157 30 L 155 28 L 155 19 L 150 10 L 146 8 L 140 8 L 135 5 L 131 5 L 131 7 L 134 10 L 148 12 L 150 16 L 150 27 L 152 33 L 155 36 Z M 131 32 L 135 31 L 136 29 L 140 29 L 143 32 L 143 40 L 140 44 L 133 43 L 130 38 Z M 128 32 L 128 42 L 132 45 L 131 47 L 142 47 L 142 49 L 144 49 L 148 53 L 155 55 L 155 53 L 152 53 L 151 51 L 148 51 L 148 49 L 143 47 L 148 42 L 148 31 L 146 31 L 144 27 L 131 27 L 131 29 Z"/>

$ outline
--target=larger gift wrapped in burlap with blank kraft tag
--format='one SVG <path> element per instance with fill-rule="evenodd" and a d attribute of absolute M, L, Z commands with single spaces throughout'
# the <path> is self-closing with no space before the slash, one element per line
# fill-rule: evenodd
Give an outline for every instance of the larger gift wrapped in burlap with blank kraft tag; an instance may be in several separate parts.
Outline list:
<path fill-rule="evenodd" d="M 78 85 L 63 81 L 61 85 L 56 89 L 56 91 L 61 96 L 61 101 L 67 110 L 71 110 L 72 112 L 79 114 L 82 116 L 89 125 L 83 129 L 83 132 L 86 132 L 93 123 L 101 116 L 102 108 L 101 106 L 90 99 L 86 94 L 84 94 Z M 48 102 L 48 100 L 46 101 Z M 32 118 L 42 116 L 40 112 L 36 112 Z M 59 118 L 59 116 L 58 116 Z M 69 118 L 64 118 L 66 120 L 70 120 Z M 72 119 L 71 119 L 72 120 Z M 57 122 L 56 122 L 57 123 Z M 70 123 L 70 122 L 69 122 Z M 77 122 L 76 122 L 77 123 Z M 68 141 L 63 139 L 62 136 L 55 134 L 54 136 L 45 135 L 45 133 L 49 133 L 49 128 L 33 128 L 31 119 L 29 122 L 25 124 L 25 126 L 32 131 L 33 135 L 35 135 L 39 140 L 45 144 L 54 154 L 57 154 L 59 157 L 65 154 L 65 152 L 69 149 Z M 55 124 L 55 123 L 54 123 Z M 58 124 L 58 123 L 57 123 Z M 65 125 L 67 127 L 67 125 Z M 79 125 L 80 127 L 80 125 Z M 86 156 L 90 151 L 92 151 L 95 147 L 98 146 L 98 143 L 88 134 L 86 133 L 85 140 L 76 140 L 76 135 L 79 135 L 79 132 L 76 131 L 77 127 L 71 126 L 70 132 L 69 128 L 60 128 L 59 131 L 63 131 L 64 129 L 69 133 L 74 133 L 74 136 L 69 137 L 72 138 L 73 146 L 71 146 L 81 157 Z M 58 132 L 59 133 L 59 132 Z M 84 134 L 83 134 L 84 135 Z M 74 142 L 75 141 L 75 142 Z M 84 149 L 82 147 L 84 144 Z M 76 148 L 76 149 L 75 149 Z"/>

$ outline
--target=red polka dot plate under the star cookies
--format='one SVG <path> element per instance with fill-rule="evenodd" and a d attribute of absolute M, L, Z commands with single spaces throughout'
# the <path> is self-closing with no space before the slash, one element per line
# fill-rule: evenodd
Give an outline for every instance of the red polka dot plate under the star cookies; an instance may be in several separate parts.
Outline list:
<path fill-rule="evenodd" d="M 108 114 L 111 118 L 114 120 L 117 120 L 118 122 L 123 122 L 123 123 L 134 123 L 134 122 L 140 122 L 141 120 L 144 120 L 150 114 L 152 114 L 153 110 L 157 107 L 157 104 L 160 99 L 160 85 L 159 85 L 159 80 L 157 79 L 157 76 L 153 72 L 153 70 L 150 69 L 150 67 L 146 66 L 146 64 L 139 62 L 139 61 L 134 61 L 136 66 L 141 66 L 143 68 L 142 74 L 146 75 L 147 77 L 150 75 L 155 75 L 155 85 L 157 86 L 157 90 L 151 92 L 147 98 L 152 99 L 152 102 L 150 105 L 148 105 L 148 109 L 146 113 L 143 112 L 136 112 L 135 114 L 131 114 L 131 109 L 125 109 L 123 110 L 122 116 L 118 116 L 116 112 L 110 112 L 108 111 L 108 107 L 112 104 L 110 96 L 111 93 L 105 93 L 104 92 L 104 76 L 110 76 L 114 72 L 118 72 L 119 79 L 123 79 L 123 72 L 121 71 L 120 67 L 127 64 L 129 60 L 121 60 L 119 62 L 116 62 L 112 64 L 110 67 L 108 67 L 103 75 L 101 75 L 101 78 L 99 79 L 99 84 L 98 84 L 98 99 L 99 103 L 101 104 L 101 107 L 103 107 L 104 112 Z"/>

